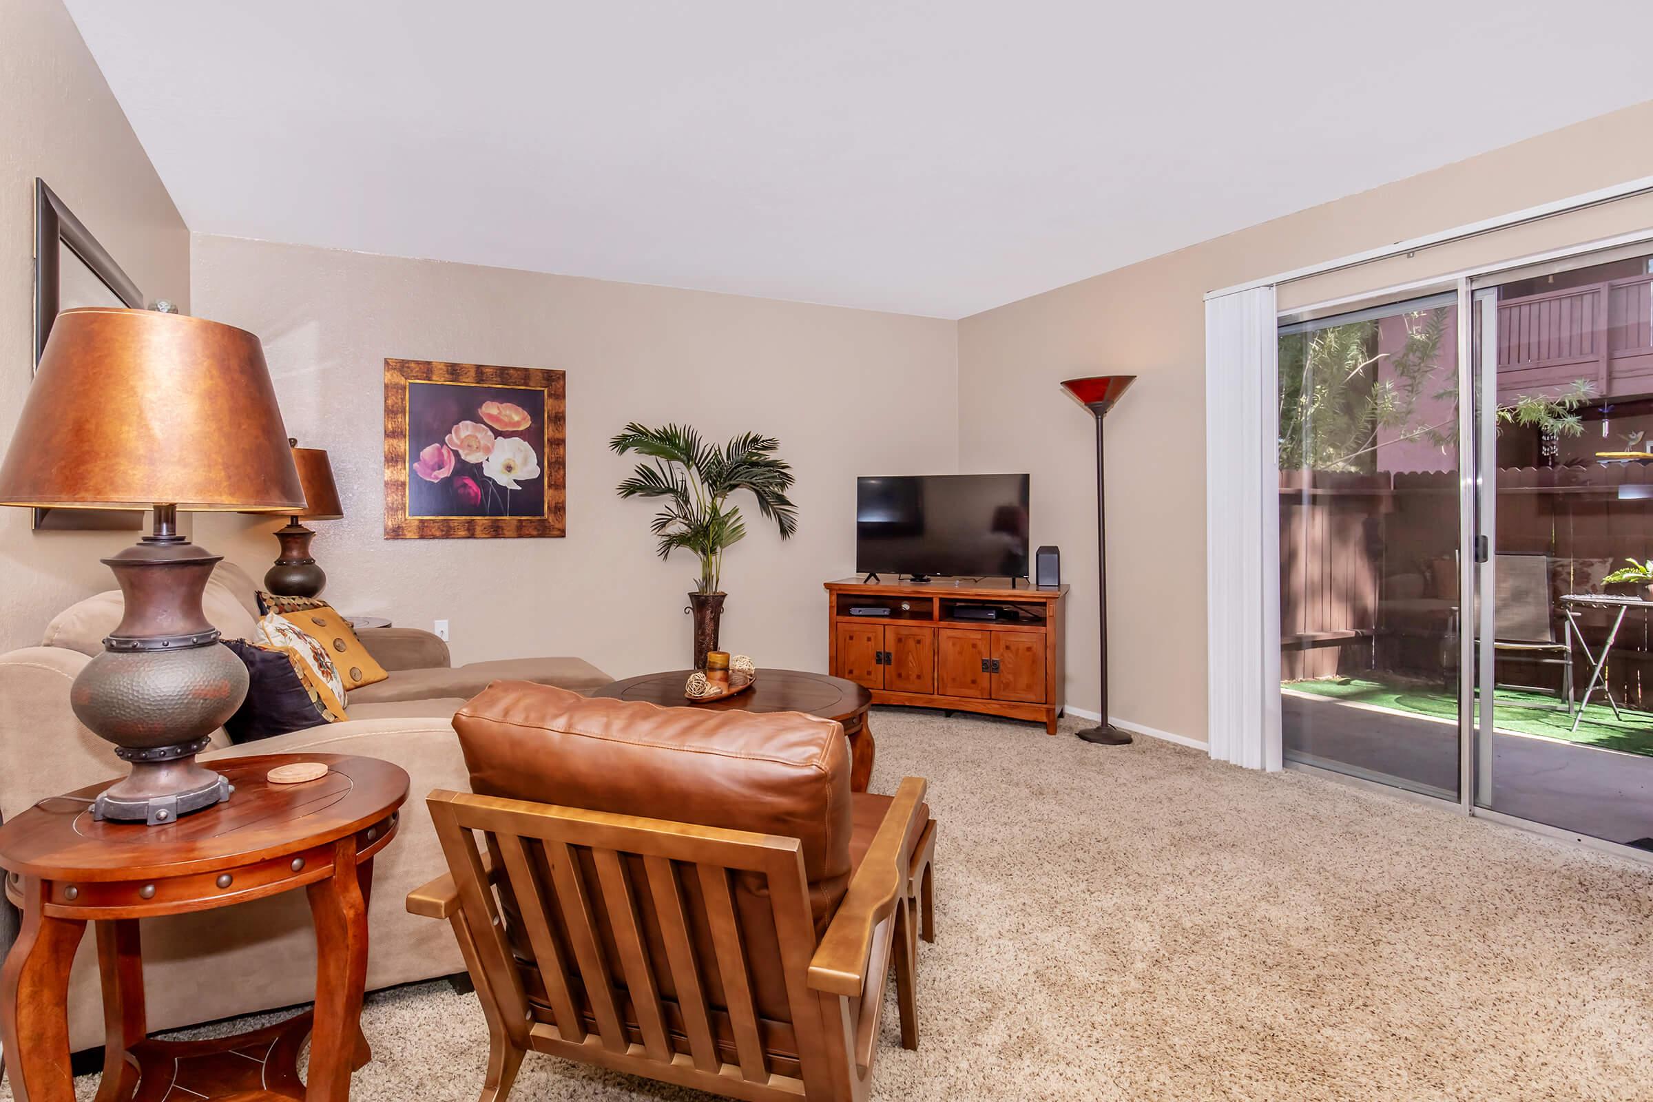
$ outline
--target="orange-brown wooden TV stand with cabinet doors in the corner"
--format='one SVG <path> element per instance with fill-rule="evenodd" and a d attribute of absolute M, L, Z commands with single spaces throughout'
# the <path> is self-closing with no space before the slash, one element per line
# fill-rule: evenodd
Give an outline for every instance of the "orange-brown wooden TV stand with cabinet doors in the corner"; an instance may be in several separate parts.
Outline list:
<path fill-rule="evenodd" d="M 866 686 L 873 704 L 1028 719 L 1056 734 L 1066 585 L 843 578 L 825 587 L 830 671 Z M 1005 613 L 969 620 L 959 615 L 960 605 L 992 605 Z M 865 606 L 888 608 L 889 615 L 850 611 Z"/>

